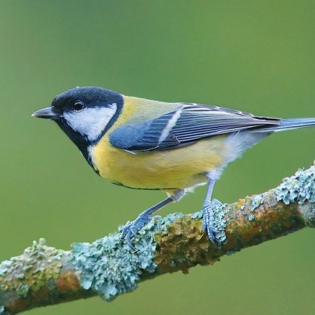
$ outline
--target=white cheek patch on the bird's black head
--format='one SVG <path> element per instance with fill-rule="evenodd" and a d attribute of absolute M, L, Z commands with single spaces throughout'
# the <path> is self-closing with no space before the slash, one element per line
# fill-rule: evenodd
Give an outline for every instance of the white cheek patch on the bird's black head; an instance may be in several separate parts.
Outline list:
<path fill-rule="evenodd" d="M 92 107 L 78 112 L 70 111 L 63 113 L 62 116 L 73 130 L 93 141 L 99 137 L 116 111 L 117 104 L 114 103 L 108 107 Z"/>

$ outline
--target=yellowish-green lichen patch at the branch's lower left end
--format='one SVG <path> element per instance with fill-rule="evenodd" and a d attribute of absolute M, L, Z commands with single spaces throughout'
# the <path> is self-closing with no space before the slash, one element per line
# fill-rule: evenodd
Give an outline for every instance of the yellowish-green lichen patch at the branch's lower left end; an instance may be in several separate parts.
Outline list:
<path fill-rule="evenodd" d="M 57 278 L 62 253 L 46 246 L 45 239 L 34 241 L 22 255 L 1 262 L 1 290 L 15 290 L 21 297 L 26 297 L 29 290 L 38 290 L 48 279 Z"/>

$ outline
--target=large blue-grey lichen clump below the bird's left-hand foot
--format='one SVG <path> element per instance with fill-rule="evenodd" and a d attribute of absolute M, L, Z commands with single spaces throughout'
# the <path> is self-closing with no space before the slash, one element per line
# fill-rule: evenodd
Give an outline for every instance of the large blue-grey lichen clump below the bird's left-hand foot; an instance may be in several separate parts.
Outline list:
<path fill-rule="evenodd" d="M 137 288 L 141 274 L 155 272 L 157 267 L 153 262 L 154 234 L 160 222 L 153 218 L 139 231 L 134 239 L 136 251 L 120 239 L 120 233 L 97 239 L 92 244 L 73 244 L 73 265 L 80 272 L 81 286 L 96 290 L 109 301 Z"/>

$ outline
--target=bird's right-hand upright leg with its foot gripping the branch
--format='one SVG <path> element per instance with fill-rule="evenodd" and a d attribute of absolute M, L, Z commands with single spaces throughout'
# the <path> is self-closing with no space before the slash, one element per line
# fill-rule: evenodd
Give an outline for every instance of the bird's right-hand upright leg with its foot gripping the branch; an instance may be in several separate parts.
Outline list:
<path fill-rule="evenodd" d="M 216 199 L 211 200 L 212 191 L 214 190 L 214 184 L 216 181 L 214 179 L 209 179 L 209 185 L 207 190 L 206 199 L 204 200 L 204 204 L 202 206 L 202 228 L 204 232 L 207 233 L 210 241 L 221 247 L 221 235 L 218 235 L 217 228 L 214 226 L 215 221 L 215 212 L 214 209 L 218 207 L 222 207 L 222 203 Z"/>

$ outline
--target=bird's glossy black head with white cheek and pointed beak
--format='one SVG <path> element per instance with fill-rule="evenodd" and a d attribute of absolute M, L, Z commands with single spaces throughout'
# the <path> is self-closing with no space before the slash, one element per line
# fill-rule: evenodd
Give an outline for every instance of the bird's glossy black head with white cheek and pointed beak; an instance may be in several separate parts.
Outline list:
<path fill-rule="evenodd" d="M 54 120 L 80 148 L 96 143 L 116 121 L 123 95 L 102 87 L 75 87 L 58 94 L 32 116 Z"/>

